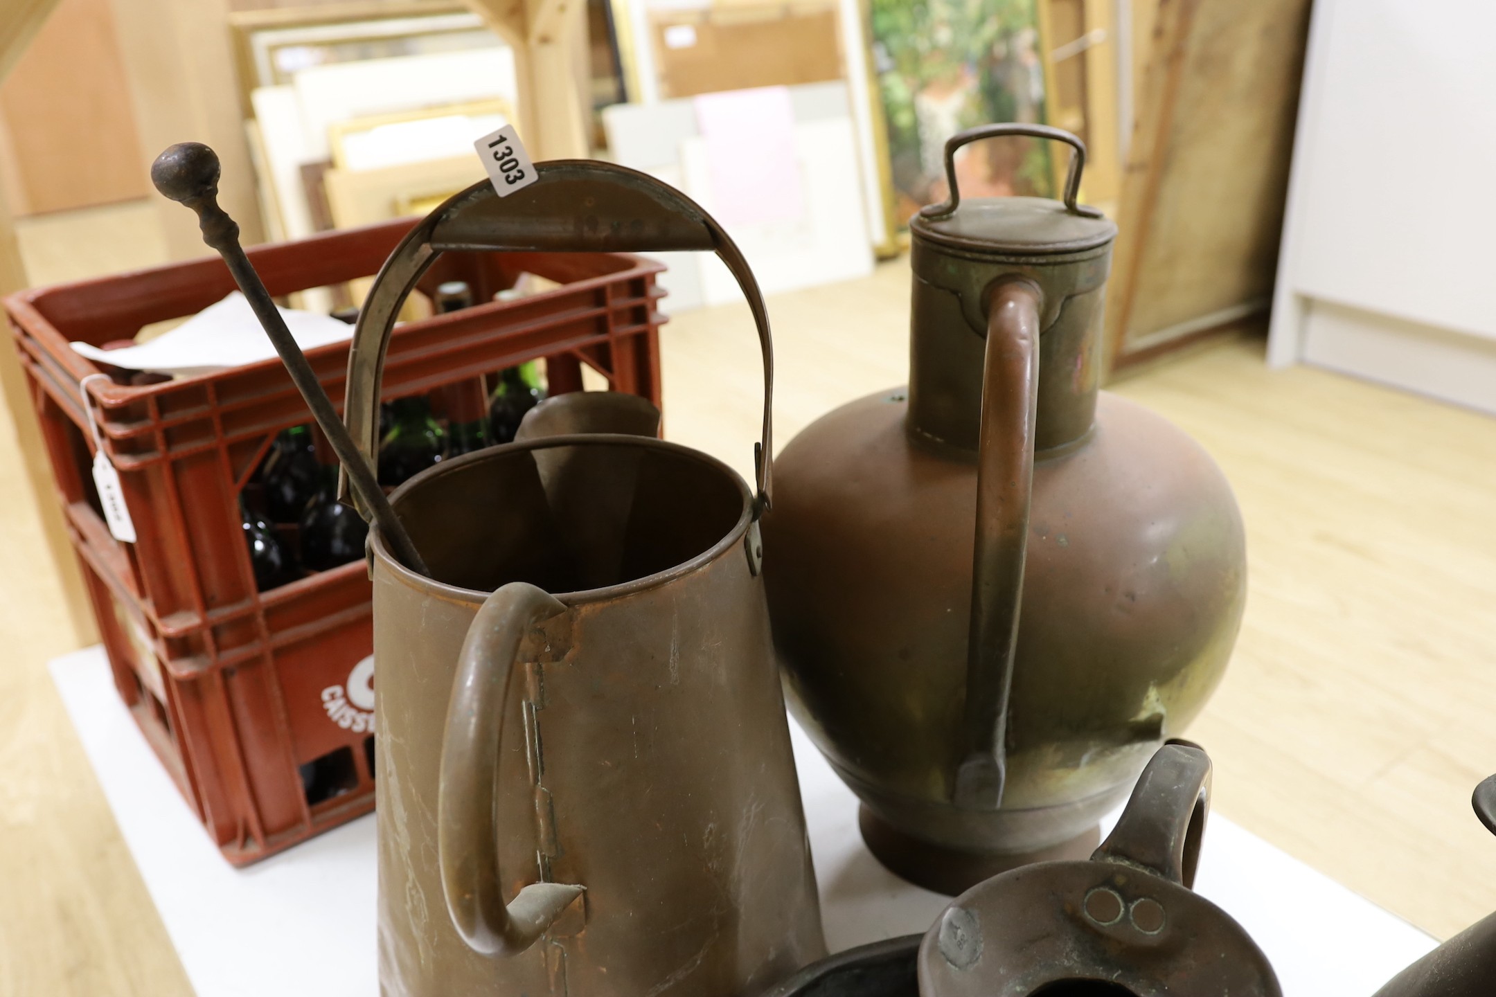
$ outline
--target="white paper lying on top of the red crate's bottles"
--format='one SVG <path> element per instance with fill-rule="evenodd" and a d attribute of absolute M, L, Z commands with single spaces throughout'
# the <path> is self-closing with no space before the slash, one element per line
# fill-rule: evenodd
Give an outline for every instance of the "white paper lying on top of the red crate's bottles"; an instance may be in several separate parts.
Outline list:
<path fill-rule="evenodd" d="M 304 351 L 329 342 L 346 342 L 353 336 L 353 326 L 329 315 L 295 308 L 277 308 L 277 311 Z M 111 363 L 127 371 L 157 371 L 184 377 L 212 374 L 275 357 L 275 347 L 254 317 L 250 302 L 239 291 L 138 347 L 100 350 L 87 342 L 75 342 L 72 347 L 99 363 Z"/>

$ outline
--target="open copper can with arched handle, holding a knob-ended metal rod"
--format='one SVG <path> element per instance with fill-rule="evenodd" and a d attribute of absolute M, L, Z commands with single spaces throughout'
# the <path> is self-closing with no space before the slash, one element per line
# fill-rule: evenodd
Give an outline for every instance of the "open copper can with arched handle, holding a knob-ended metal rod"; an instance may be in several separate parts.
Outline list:
<path fill-rule="evenodd" d="M 153 178 L 200 214 L 374 522 L 381 991 L 735 997 L 823 955 L 758 574 L 769 323 L 727 235 L 607 163 L 539 163 L 503 200 L 476 184 L 375 278 L 344 426 L 283 348 L 208 157 L 174 146 Z M 453 250 L 717 251 L 763 348 L 757 487 L 651 438 L 633 402 L 562 396 L 516 442 L 438 463 L 386 501 L 370 471 L 384 350 L 405 296 Z"/>

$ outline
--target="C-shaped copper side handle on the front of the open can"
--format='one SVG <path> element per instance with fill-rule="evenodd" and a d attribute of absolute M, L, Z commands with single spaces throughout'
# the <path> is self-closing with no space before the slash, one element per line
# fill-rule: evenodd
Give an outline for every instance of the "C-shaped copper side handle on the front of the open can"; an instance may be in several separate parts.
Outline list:
<path fill-rule="evenodd" d="M 483 955 L 524 952 L 585 889 L 530 883 L 504 903 L 494 819 L 515 659 L 537 625 L 564 611 L 565 605 L 533 584 L 503 586 L 473 617 L 452 683 L 437 788 L 437 854 L 452 924 Z"/>

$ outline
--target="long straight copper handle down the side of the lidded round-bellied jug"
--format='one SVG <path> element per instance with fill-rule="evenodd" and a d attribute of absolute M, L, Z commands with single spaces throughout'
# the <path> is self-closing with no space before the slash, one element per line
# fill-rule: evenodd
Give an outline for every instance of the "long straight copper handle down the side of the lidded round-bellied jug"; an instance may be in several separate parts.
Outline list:
<path fill-rule="evenodd" d="M 977 442 L 977 535 L 966 638 L 965 752 L 954 803 L 996 810 L 1007 782 L 1008 694 L 1017 652 L 1034 492 L 1040 290 L 1026 280 L 992 288 Z"/>

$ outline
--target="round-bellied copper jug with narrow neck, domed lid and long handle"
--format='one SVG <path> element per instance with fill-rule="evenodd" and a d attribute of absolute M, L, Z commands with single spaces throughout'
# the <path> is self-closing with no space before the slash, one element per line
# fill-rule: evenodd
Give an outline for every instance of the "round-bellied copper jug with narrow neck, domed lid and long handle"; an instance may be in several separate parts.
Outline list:
<path fill-rule="evenodd" d="M 1073 148 L 1062 202 L 960 197 L 957 151 L 1008 135 Z M 950 199 L 911 223 L 910 384 L 791 439 L 764 519 L 790 707 L 880 861 L 948 894 L 1089 855 L 1246 596 L 1221 471 L 1098 390 L 1116 227 L 1077 203 L 1083 164 L 1043 126 L 947 143 Z"/>

